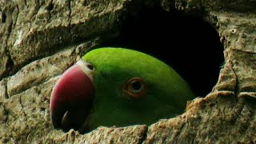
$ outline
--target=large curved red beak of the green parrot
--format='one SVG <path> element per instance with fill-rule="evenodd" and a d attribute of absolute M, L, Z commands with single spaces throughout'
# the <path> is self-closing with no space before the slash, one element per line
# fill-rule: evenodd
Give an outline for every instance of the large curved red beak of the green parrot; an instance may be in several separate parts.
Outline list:
<path fill-rule="evenodd" d="M 78 61 L 54 86 L 50 96 L 50 119 L 56 129 L 78 130 L 90 114 L 94 86 L 85 67 L 86 62 Z"/>

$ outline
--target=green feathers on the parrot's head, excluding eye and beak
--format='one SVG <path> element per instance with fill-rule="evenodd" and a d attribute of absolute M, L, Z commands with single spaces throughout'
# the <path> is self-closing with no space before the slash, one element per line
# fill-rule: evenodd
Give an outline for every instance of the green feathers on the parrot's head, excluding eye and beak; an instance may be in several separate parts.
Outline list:
<path fill-rule="evenodd" d="M 150 125 L 161 118 L 182 114 L 186 102 L 194 98 L 181 76 L 148 54 L 123 48 L 100 48 L 91 50 L 82 59 L 95 68 L 94 104 L 87 121 L 91 129 Z M 145 82 L 146 93 L 142 98 L 124 94 L 129 78 L 142 78 Z"/>

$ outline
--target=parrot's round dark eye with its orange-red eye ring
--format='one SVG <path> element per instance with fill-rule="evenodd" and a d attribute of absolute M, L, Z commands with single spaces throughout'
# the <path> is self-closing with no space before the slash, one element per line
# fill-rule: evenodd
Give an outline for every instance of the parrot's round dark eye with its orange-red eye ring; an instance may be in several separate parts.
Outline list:
<path fill-rule="evenodd" d="M 142 98 L 146 95 L 146 83 L 142 78 L 130 78 L 125 82 L 122 93 L 129 98 Z"/>

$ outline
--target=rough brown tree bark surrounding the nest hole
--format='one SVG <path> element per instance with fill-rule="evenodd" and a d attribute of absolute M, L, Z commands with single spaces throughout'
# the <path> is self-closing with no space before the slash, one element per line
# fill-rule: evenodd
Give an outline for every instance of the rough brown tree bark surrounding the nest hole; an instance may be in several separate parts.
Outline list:
<path fill-rule="evenodd" d="M 160 2 L 160 1 L 159 1 Z M 163 0 L 166 10 L 202 14 L 225 46 L 225 66 L 205 98 L 151 126 L 54 130 L 49 100 L 67 67 L 115 36 L 129 0 L 0 1 L 0 142 L 256 143 L 256 2 Z"/>

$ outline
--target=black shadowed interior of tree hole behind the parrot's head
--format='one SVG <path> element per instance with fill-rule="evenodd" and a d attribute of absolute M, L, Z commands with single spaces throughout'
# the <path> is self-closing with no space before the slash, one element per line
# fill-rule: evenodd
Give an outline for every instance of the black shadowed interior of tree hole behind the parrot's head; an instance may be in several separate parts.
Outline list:
<path fill-rule="evenodd" d="M 199 97 L 210 93 L 224 62 L 222 43 L 210 23 L 160 6 L 127 14 L 118 37 L 101 46 L 140 50 L 166 62 Z"/>

